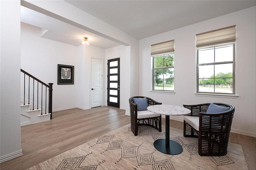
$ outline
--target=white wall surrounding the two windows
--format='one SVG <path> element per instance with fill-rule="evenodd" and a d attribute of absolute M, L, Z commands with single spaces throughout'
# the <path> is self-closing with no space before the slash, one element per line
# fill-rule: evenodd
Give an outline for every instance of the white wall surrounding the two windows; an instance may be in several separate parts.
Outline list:
<path fill-rule="evenodd" d="M 196 92 L 196 34 L 236 25 L 236 94 L 238 98 L 195 96 Z M 232 131 L 255 136 L 256 134 L 256 7 L 203 21 L 166 33 L 140 40 L 139 94 L 163 104 L 182 106 L 223 102 L 234 105 L 236 111 Z M 175 43 L 175 94 L 150 92 L 150 45 L 174 39 Z M 151 74 L 150 74 L 151 73 Z M 172 117 L 176 118 L 177 117 Z M 182 117 L 178 119 L 183 120 Z"/>

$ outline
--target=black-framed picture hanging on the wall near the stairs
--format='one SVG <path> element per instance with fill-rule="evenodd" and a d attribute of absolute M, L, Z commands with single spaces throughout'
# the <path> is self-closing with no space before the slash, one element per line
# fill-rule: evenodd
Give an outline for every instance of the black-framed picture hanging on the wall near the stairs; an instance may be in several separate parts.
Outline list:
<path fill-rule="evenodd" d="M 74 84 L 74 66 L 58 64 L 58 84 Z"/>

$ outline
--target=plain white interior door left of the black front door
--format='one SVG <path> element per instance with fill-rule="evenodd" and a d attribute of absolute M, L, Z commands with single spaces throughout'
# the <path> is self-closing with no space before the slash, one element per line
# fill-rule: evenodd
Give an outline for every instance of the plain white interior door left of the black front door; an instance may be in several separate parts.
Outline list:
<path fill-rule="evenodd" d="M 103 99 L 103 62 L 92 58 L 91 107 L 102 106 Z"/>

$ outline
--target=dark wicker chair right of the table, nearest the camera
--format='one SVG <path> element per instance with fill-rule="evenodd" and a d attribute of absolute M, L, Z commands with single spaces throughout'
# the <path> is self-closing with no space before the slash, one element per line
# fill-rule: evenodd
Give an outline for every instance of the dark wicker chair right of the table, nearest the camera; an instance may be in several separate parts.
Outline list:
<path fill-rule="evenodd" d="M 227 154 L 228 139 L 235 108 L 230 104 L 214 103 L 229 107 L 220 113 L 206 113 L 210 103 L 183 105 L 191 110 L 184 116 L 184 137 L 198 137 L 200 156 L 223 156 Z"/>

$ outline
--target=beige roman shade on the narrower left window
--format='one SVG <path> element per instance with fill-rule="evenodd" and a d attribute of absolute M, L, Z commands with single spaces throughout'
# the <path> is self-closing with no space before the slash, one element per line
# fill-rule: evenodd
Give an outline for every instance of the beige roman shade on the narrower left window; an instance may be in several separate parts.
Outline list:
<path fill-rule="evenodd" d="M 174 53 L 174 40 L 151 45 L 151 56 Z"/>

